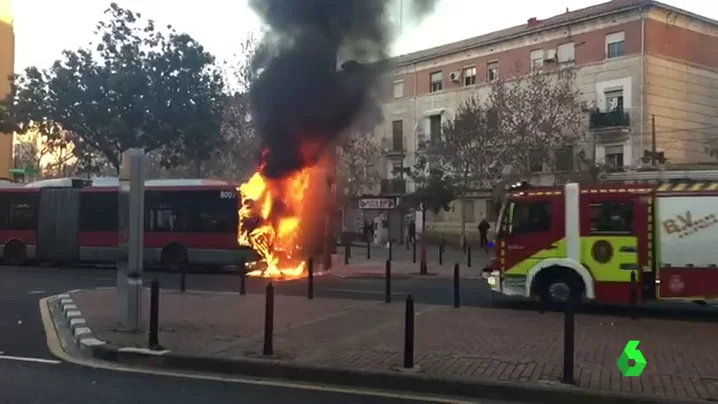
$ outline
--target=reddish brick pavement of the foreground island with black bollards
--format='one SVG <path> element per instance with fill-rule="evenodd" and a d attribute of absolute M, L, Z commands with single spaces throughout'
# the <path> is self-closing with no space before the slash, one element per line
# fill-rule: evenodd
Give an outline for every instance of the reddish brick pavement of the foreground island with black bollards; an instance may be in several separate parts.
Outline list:
<path fill-rule="evenodd" d="M 98 337 L 143 346 L 146 335 L 114 329 L 114 291 L 73 295 Z M 275 296 L 276 357 L 297 364 L 392 371 L 401 365 L 404 305 Z M 263 296 L 166 292 L 160 343 L 176 353 L 261 356 Z M 416 363 L 429 376 L 464 381 L 555 383 L 563 316 L 486 308 L 416 306 Z M 718 324 L 577 315 L 580 387 L 672 399 L 718 400 Z M 621 377 L 616 360 L 641 340 L 648 366 Z"/>

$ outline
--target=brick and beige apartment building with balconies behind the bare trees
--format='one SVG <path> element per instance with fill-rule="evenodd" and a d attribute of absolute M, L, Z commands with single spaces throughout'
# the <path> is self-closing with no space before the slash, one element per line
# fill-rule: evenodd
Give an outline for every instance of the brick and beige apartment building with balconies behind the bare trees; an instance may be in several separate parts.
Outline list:
<path fill-rule="evenodd" d="M 491 83 L 547 63 L 577 68 L 586 111 L 588 153 L 632 169 L 646 164 L 655 126 L 656 152 L 671 163 L 708 161 L 718 138 L 718 22 L 651 0 L 614 0 L 396 58 L 375 135 L 384 150 L 382 194 L 413 185 L 397 168 L 412 166 L 425 141 L 467 98 L 487 97 Z M 527 70 L 528 71 L 528 70 Z M 655 125 L 654 125 L 655 123 Z M 593 150 L 590 150 L 593 149 Z M 542 183 L 554 177 L 539 176 Z M 487 195 L 464 202 L 467 228 L 491 218 Z M 427 228 L 456 233 L 461 209 L 427 218 Z"/>

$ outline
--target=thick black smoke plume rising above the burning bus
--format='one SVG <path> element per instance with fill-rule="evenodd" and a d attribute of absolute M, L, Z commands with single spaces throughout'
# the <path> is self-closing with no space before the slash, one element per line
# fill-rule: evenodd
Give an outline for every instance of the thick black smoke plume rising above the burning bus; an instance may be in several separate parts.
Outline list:
<path fill-rule="evenodd" d="M 432 12 L 435 0 L 407 0 L 406 20 Z M 366 111 L 376 111 L 380 71 L 337 55 L 375 62 L 388 58 L 395 30 L 391 0 L 250 0 L 269 28 L 252 60 L 250 88 L 261 136 L 263 174 L 282 178 L 313 165 Z"/>

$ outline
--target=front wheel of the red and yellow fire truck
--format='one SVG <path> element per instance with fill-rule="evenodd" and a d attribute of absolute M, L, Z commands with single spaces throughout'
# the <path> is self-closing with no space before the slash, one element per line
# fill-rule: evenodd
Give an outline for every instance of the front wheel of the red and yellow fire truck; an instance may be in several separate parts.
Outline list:
<path fill-rule="evenodd" d="M 579 303 L 583 298 L 584 285 L 581 277 L 571 269 L 547 268 L 536 280 L 536 292 L 544 303 L 564 303 L 571 299 Z"/>

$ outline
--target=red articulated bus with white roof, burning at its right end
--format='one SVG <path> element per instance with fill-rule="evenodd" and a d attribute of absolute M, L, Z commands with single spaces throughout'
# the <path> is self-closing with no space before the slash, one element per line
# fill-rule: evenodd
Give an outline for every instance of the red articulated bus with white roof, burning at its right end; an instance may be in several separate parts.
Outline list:
<path fill-rule="evenodd" d="M 101 263 L 117 258 L 119 181 L 60 178 L 0 186 L 0 258 Z M 144 260 L 169 270 L 252 260 L 237 243 L 235 186 L 212 180 L 145 183 Z"/>

